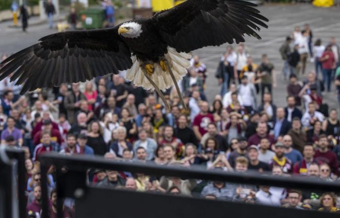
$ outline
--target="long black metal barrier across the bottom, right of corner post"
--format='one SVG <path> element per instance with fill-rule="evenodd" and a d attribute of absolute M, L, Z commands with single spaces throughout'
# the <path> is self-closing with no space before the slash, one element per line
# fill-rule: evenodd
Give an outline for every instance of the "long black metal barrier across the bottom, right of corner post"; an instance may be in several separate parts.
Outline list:
<path fill-rule="evenodd" d="M 57 178 L 57 212 L 62 212 L 62 198 L 75 198 L 76 218 L 335 218 L 339 215 L 279 208 L 265 205 L 254 205 L 238 202 L 209 201 L 189 197 L 161 195 L 157 193 L 130 192 L 128 190 L 104 189 L 89 187 L 86 184 L 86 171 L 99 168 L 116 171 L 139 172 L 155 176 L 176 176 L 181 178 L 199 178 L 235 183 L 290 187 L 301 189 L 319 189 L 340 191 L 340 184 L 324 183 L 303 178 L 285 178 L 261 176 L 259 174 L 224 171 L 206 171 L 174 166 L 157 166 L 153 164 L 128 163 L 107 160 L 102 157 L 60 156 L 44 154 L 39 158 L 42 175 L 49 166 L 56 167 Z M 42 176 L 43 218 L 48 217 L 47 180 Z M 100 200 L 98 200 L 100 199 Z M 152 208 L 148 207 L 152 205 Z M 170 208 L 170 209 L 169 209 Z"/>

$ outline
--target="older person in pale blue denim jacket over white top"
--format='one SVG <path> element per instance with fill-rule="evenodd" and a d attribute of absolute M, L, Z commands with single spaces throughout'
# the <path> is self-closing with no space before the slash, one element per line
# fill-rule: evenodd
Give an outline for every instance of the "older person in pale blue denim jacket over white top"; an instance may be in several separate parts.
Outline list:
<path fill-rule="evenodd" d="M 147 154 L 147 160 L 154 159 L 154 152 L 157 148 L 157 143 L 155 140 L 148 138 L 148 135 L 145 130 L 140 130 L 138 132 L 138 138 L 134 144 L 134 153 L 136 154 L 136 151 L 138 148 L 142 147 L 145 149 Z"/>

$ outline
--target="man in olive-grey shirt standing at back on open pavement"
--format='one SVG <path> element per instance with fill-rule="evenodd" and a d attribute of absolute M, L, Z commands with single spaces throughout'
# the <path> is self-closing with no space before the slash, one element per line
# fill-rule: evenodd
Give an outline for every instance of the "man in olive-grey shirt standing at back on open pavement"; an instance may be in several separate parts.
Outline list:
<path fill-rule="evenodd" d="M 261 100 L 264 101 L 263 95 L 265 88 L 272 94 L 272 87 L 276 88 L 276 74 L 274 71 L 274 65 L 268 61 L 266 54 L 262 55 L 262 63 L 257 68 L 259 77 L 261 78 Z"/>

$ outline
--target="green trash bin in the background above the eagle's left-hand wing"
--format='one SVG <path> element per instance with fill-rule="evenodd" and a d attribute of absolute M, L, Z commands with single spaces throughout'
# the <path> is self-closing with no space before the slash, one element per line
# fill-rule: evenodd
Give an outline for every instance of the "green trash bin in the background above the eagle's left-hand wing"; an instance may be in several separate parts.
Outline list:
<path fill-rule="evenodd" d="M 100 29 L 103 27 L 105 20 L 105 11 L 103 9 L 90 8 L 80 12 L 83 22 L 83 28 L 86 30 Z"/>

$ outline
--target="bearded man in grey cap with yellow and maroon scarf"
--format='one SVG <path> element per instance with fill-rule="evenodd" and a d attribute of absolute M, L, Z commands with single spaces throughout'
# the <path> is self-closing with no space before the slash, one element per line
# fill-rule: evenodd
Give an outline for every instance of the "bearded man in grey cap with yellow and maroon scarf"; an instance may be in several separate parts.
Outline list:
<path fill-rule="evenodd" d="M 281 142 L 275 144 L 275 156 L 269 162 L 269 166 L 279 166 L 284 173 L 290 173 L 292 171 L 291 161 L 284 156 L 285 145 Z"/>

